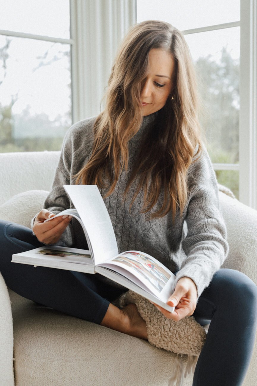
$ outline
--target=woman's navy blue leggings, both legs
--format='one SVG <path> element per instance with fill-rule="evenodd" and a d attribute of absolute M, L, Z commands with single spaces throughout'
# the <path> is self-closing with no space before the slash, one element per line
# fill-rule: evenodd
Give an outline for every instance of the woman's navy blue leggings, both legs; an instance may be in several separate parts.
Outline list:
<path fill-rule="evenodd" d="M 101 323 L 109 302 L 121 294 L 96 275 L 11 263 L 12 254 L 42 246 L 21 225 L 0 221 L 0 245 L 7 286 L 36 303 Z M 257 286 L 243 273 L 220 269 L 200 296 L 194 317 L 210 327 L 193 386 L 242 385 L 254 346 Z"/>

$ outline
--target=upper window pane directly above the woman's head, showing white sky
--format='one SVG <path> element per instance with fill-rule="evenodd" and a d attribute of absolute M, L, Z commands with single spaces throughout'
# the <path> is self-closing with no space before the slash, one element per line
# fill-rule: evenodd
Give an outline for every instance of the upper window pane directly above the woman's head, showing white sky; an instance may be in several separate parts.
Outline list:
<path fill-rule="evenodd" d="M 240 0 L 136 0 L 136 14 L 185 30 L 240 20 Z"/>

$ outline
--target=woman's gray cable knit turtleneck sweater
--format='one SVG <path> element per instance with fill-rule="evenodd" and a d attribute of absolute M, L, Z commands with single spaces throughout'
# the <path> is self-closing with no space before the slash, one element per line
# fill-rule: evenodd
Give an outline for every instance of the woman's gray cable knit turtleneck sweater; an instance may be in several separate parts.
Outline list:
<path fill-rule="evenodd" d="M 162 194 L 153 210 L 147 213 L 140 213 L 143 206 L 141 192 L 129 212 L 136 183 L 131 185 L 128 199 L 123 201 L 123 192 L 143 133 L 156 117 L 158 114 L 154 113 L 143 118 L 139 131 L 129 141 L 128 172 L 121 173 L 114 192 L 105 198 L 104 202 L 113 223 L 119 252 L 134 249 L 150 254 L 173 273 L 177 272 L 177 280 L 184 276 L 191 278 L 200 296 L 228 252 L 228 244 L 225 241 L 226 229 L 218 200 L 217 180 L 207 151 L 203 149 L 202 157 L 188 169 L 188 199 L 182 217 L 180 213 L 176 213 L 175 225 L 172 213 L 161 218 L 150 217 L 152 212 L 161 207 Z M 53 188 L 44 204 L 44 208 L 53 213 L 74 207 L 62 185 L 74 184 L 73 176 L 89 160 L 92 153 L 94 121 L 94 118 L 82 120 L 67 132 Z M 100 189 L 100 192 L 103 196 L 107 190 Z M 77 220 L 72 218 L 57 245 L 87 248 L 83 230 Z M 109 281 L 101 275 L 97 276 L 104 282 Z M 113 282 L 112 284 L 115 285 Z"/>

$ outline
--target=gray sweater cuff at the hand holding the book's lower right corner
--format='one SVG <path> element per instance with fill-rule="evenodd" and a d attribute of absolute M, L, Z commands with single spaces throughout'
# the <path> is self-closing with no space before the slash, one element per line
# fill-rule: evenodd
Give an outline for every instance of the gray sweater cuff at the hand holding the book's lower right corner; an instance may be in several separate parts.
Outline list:
<path fill-rule="evenodd" d="M 208 280 L 207 275 L 202 272 L 198 264 L 190 264 L 180 269 L 180 271 L 176 273 L 175 286 L 181 278 L 190 278 L 193 280 L 197 288 L 197 300 L 203 290 L 210 284 L 210 280 Z"/>

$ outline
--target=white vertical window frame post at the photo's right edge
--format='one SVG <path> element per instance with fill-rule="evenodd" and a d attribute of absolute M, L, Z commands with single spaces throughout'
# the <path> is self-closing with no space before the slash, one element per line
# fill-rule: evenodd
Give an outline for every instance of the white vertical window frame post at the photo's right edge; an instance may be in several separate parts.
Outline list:
<path fill-rule="evenodd" d="M 257 0 L 241 1 L 239 199 L 257 209 Z"/>

